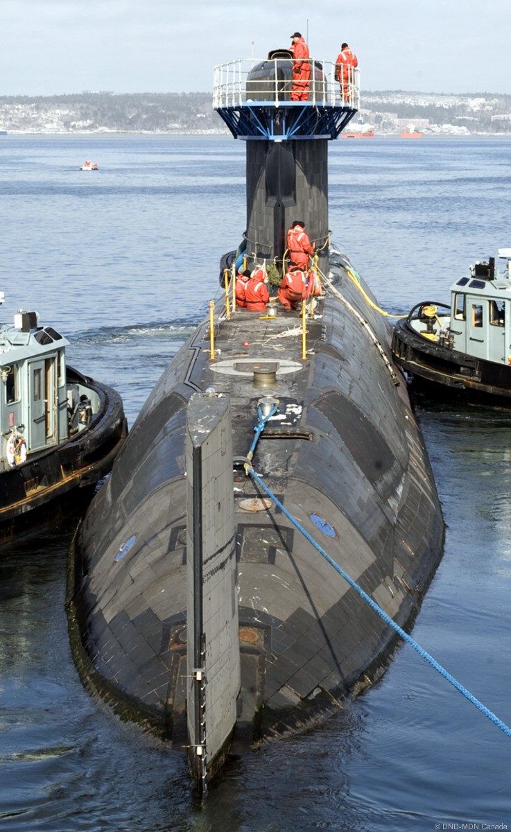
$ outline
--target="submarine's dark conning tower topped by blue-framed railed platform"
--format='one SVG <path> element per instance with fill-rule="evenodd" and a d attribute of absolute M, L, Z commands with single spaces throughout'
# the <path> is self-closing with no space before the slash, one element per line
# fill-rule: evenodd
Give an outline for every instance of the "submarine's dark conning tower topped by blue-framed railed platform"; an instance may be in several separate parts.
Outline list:
<path fill-rule="evenodd" d="M 336 139 L 360 106 L 359 71 L 335 80 L 335 62 L 310 58 L 306 100 L 294 100 L 293 57 L 273 50 L 266 60 L 215 67 L 213 106 L 236 139 L 246 139 L 246 245 L 248 265 L 281 262 L 286 235 L 303 220 L 328 270 L 327 141 Z M 294 89 L 295 87 L 295 89 Z"/>

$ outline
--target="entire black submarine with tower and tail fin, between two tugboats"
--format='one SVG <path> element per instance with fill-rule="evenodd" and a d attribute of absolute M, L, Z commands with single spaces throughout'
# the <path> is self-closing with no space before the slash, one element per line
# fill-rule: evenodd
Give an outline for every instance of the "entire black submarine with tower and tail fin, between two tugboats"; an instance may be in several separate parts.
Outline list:
<path fill-rule="evenodd" d="M 70 550 L 82 681 L 186 749 L 200 793 L 230 755 L 339 711 L 398 646 L 320 550 L 409 626 L 444 539 L 391 327 L 330 240 L 328 143 L 358 110 L 358 71 L 342 90 L 313 61 L 297 101 L 292 68 L 286 50 L 216 67 L 213 106 L 246 141 L 246 231 Z M 237 270 L 285 271 L 295 220 L 321 295 L 236 305 Z"/>

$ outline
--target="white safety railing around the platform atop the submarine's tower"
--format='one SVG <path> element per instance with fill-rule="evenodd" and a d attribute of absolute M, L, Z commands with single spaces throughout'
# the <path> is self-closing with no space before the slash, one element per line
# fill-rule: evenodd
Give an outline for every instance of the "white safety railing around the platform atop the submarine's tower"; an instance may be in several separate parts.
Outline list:
<path fill-rule="evenodd" d="M 310 58 L 307 63 L 310 65 L 309 79 L 304 77 L 304 62 L 292 58 L 240 58 L 219 64 L 214 70 L 213 106 L 219 109 L 298 102 L 360 109 L 358 69 L 342 67 L 340 79 L 336 80 L 335 62 Z M 300 65 L 300 74 L 292 72 L 293 64 Z"/>

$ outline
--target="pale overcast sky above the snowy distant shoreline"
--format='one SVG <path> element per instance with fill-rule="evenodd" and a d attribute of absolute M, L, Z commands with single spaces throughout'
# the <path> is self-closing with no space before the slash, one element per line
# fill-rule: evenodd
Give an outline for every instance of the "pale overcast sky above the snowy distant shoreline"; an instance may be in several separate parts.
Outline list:
<path fill-rule="evenodd" d="M 510 0 L 0 0 L 0 95 L 208 92 L 295 30 L 322 60 L 348 42 L 362 91 L 511 93 Z"/>

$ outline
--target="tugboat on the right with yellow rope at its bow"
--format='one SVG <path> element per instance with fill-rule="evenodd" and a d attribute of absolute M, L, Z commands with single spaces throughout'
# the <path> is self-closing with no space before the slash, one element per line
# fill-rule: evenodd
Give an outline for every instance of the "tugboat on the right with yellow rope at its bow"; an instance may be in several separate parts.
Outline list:
<path fill-rule="evenodd" d="M 415 389 L 466 404 L 511 407 L 511 249 L 470 266 L 450 306 L 420 303 L 394 327 L 392 353 Z"/>

